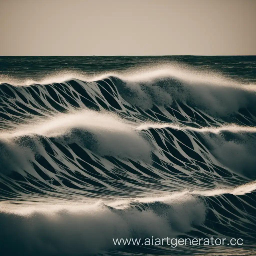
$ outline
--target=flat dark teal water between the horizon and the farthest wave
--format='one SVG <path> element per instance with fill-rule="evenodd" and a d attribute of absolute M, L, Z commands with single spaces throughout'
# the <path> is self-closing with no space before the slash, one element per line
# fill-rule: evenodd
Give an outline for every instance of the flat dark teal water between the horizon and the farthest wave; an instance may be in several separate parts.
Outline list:
<path fill-rule="evenodd" d="M 0 57 L 0 74 L 40 79 L 56 71 L 121 71 L 156 63 L 178 62 L 224 73 L 245 83 L 255 82 L 256 56 L 35 56 Z"/>

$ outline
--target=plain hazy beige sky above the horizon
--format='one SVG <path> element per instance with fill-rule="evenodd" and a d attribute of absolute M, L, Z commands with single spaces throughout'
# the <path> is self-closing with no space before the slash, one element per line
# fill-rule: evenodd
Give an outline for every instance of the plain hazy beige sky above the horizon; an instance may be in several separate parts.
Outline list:
<path fill-rule="evenodd" d="M 256 0 L 0 0 L 0 56 L 256 55 Z"/>

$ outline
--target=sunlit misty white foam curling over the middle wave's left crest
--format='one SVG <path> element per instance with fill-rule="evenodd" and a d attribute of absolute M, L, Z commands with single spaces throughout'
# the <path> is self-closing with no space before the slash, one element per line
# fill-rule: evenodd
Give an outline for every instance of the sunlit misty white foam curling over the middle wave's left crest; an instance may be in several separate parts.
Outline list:
<path fill-rule="evenodd" d="M 82 130 L 81 137 L 78 137 L 77 129 Z M 17 125 L 15 130 L 0 133 L 0 137 L 5 141 L 13 141 L 17 137 L 33 134 L 56 137 L 62 143 L 77 142 L 83 146 L 92 143 L 92 150 L 99 155 L 138 158 L 146 162 L 152 150 L 139 131 L 125 123 L 125 120 L 114 114 L 90 110 L 30 120 L 28 124 Z"/>

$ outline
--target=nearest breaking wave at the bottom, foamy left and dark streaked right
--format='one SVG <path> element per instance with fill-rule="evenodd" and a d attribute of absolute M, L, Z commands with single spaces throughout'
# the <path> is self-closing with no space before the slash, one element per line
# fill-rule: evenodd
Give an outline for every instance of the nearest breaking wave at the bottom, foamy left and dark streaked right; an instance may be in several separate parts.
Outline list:
<path fill-rule="evenodd" d="M 30 203 L 22 209 L 7 204 L 2 205 L 4 210 L 0 213 L 4 223 L 1 236 L 5 237 L 6 247 L 13 242 L 22 245 L 9 251 L 15 254 L 22 249 L 26 255 L 81 255 L 84 251 L 93 255 L 120 249 L 110 242 L 112 238 L 189 238 L 199 234 L 206 238 L 212 232 L 216 238 L 242 238 L 253 244 L 255 199 L 255 194 L 206 197 L 183 192 L 108 204 L 62 201 L 56 205 L 55 199 L 47 206 Z M 11 236 L 12 227 L 15 233 Z"/>

